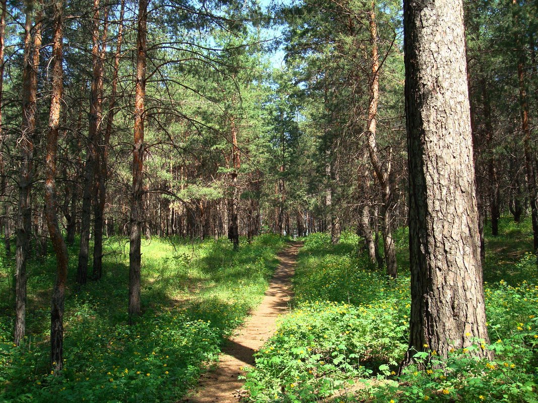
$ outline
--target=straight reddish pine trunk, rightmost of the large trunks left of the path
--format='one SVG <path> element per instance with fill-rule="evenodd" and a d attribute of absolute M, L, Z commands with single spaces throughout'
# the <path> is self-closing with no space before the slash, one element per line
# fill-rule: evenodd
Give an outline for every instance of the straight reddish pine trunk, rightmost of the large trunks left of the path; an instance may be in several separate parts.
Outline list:
<path fill-rule="evenodd" d="M 146 95 L 146 26 L 147 0 L 138 3 L 137 69 L 134 93 L 134 149 L 131 204 L 131 236 L 129 248 L 129 318 L 140 315 L 140 233 L 143 209 L 144 167 L 144 98 Z"/>

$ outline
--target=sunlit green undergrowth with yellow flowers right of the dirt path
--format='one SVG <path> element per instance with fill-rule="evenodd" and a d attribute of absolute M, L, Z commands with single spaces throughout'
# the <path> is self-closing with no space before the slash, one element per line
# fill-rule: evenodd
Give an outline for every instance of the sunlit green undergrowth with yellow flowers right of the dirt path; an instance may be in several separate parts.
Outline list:
<path fill-rule="evenodd" d="M 396 372 L 407 349 L 410 310 L 405 261 L 399 278 L 390 280 L 357 253 L 355 235 L 344 234 L 336 246 L 326 234 L 310 235 L 299 254 L 295 309 L 258 352 L 246 380 L 249 400 L 536 402 L 538 282 L 528 235 L 528 222 L 506 219 L 500 236 L 487 239 L 491 344 L 477 340 L 443 364 L 435 355 L 417 356 L 428 360 L 425 369 L 409 366 L 401 376 Z M 407 236 L 405 229 L 396 235 L 404 257 Z M 502 244 L 509 247 L 499 250 Z M 492 350 L 494 358 L 477 360 L 473 348 Z"/>

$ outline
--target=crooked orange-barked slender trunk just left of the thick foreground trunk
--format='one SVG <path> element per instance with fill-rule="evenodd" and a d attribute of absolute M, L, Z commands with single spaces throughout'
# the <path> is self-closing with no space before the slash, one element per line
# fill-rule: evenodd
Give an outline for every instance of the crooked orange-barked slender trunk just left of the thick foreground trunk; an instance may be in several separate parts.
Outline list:
<path fill-rule="evenodd" d="M 377 151 L 376 131 L 377 131 L 377 105 L 379 102 L 379 55 L 378 55 L 378 38 L 377 38 L 377 22 L 375 3 L 371 3 L 370 11 L 370 41 L 372 44 L 372 80 L 370 83 L 370 105 L 368 108 L 368 129 L 366 134 L 368 136 L 368 150 L 370 154 L 370 161 L 374 172 L 376 172 L 376 178 L 381 188 L 381 199 L 383 206 L 381 206 L 381 229 L 383 232 L 384 242 L 384 254 L 385 262 L 387 264 L 387 275 L 392 278 L 398 277 L 398 262 L 396 260 L 396 248 L 394 239 L 392 238 L 392 217 L 391 210 L 393 207 L 392 202 L 392 186 L 391 186 L 391 169 L 390 164 L 384 168 L 379 160 L 379 154 Z"/>

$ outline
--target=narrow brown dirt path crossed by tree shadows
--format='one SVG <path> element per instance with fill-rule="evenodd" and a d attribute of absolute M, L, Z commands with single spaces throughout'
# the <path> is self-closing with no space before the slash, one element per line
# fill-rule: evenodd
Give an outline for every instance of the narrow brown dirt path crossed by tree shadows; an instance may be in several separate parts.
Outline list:
<path fill-rule="evenodd" d="M 199 391 L 188 398 L 191 403 L 237 403 L 238 390 L 245 375 L 245 366 L 254 364 L 252 355 L 271 337 L 277 316 L 288 312 L 292 296 L 291 278 L 294 273 L 297 252 L 302 246 L 293 242 L 278 254 L 280 264 L 275 270 L 265 297 L 256 311 L 228 341 L 220 356 L 218 366 L 202 376 Z"/>

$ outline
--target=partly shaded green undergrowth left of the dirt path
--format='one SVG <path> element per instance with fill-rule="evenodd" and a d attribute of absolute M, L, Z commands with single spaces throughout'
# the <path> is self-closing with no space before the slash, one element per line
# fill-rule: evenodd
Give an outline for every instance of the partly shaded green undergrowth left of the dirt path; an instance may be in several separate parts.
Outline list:
<path fill-rule="evenodd" d="M 0 274 L 0 401 L 177 401 L 214 361 L 224 337 L 263 298 L 277 236 L 263 235 L 232 251 L 227 240 L 190 243 L 153 239 L 142 249 L 143 315 L 128 326 L 128 245 L 110 238 L 104 276 L 77 290 L 77 250 L 70 248 L 65 314 L 65 370 L 48 373 L 51 254 L 29 262 L 28 337 L 11 344 L 12 262 Z M 3 254 L 3 250 L 0 250 Z M 91 265 L 90 265 L 91 269 Z"/>

